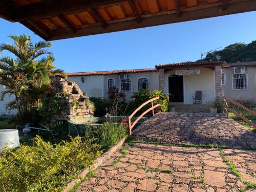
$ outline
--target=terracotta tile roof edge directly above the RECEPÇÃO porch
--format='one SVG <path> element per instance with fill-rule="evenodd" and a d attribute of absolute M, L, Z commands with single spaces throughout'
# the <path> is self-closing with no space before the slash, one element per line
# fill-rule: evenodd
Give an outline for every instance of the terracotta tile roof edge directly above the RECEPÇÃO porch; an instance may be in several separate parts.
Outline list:
<path fill-rule="evenodd" d="M 221 66 L 224 65 L 224 61 L 187 61 L 187 62 L 178 62 L 178 63 L 168 63 L 157 65 L 156 69 L 164 69 L 170 67 L 189 67 L 189 66 Z"/>

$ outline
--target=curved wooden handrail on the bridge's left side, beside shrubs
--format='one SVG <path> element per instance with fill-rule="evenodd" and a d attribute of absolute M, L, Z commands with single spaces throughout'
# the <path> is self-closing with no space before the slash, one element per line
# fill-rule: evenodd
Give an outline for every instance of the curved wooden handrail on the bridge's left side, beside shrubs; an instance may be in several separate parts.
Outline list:
<path fill-rule="evenodd" d="M 154 113 L 154 109 L 157 108 L 158 106 L 160 106 L 160 104 L 156 104 L 156 105 L 153 104 L 153 101 L 155 101 L 155 100 L 157 100 L 157 99 L 159 99 L 159 97 L 155 97 L 155 98 L 153 98 L 153 99 L 150 99 L 150 100 L 144 102 L 142 105 L 139 106 L 139 108 L 137 108 L 137 109 L 132 113 L 132 115 L 129 116 L 129 132 L 130 132 L 130 135 L 132 135 L 132 129 L 133 129 L 133 127 L 135 126 L 135 124 L 136 124 L 145 114 L 147 114 L 148 112 L 152 111 L 153 116 L 154 116 L 154 114 L 155 114 L 155 113 Z M 148 103 L 150 103 L 150 102 L 151 102 L 151 104 L 152 104 L 152 107 L 151 107 L 150 109 L 146 110 L 145 112 L 143 112 L 143 113 L 132 123 L 132 122 L 131 122 L 131 119 L 133 118 L 133 116 L 134 116 L 141 108 L 143 108 L 143 106 L 145 106 L 146 104 L 148 104 Z"/>

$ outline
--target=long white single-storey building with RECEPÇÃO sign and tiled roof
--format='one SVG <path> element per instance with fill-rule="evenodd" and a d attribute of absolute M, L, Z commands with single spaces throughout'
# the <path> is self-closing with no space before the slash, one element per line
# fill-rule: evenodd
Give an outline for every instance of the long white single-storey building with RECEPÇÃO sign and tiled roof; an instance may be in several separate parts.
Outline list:
<path fill-rule="evenodd" d="M 202 103 L 211 104 L 219 96 L 256 103 L 256 62 L 220 61 L 182 62 L 158 65 L 155 69 L 135 69 L 67 73 L 89 97 L 108 99 L 108 89 L 115 86 L 130 100 L 134 92 L 149 88 L 169 94 L 170 102 L 192 104 L 196 91 L 202 91 Z M 0 87 L 0 91 L 4 90 Z M 0 102 L 0 114 L 6 113 Z"/>

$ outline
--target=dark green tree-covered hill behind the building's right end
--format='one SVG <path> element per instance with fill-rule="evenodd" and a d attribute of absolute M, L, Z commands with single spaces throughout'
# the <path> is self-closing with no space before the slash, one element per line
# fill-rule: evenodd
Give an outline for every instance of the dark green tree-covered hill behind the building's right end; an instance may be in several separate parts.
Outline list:
<path fill-rule="evenodd" d="M 227 63 L 256 61 L 256 40 L 250 44 L 237 42 L 223 50 L 207 53 L 204 59 L 198 61 L 226 61 Z"/>

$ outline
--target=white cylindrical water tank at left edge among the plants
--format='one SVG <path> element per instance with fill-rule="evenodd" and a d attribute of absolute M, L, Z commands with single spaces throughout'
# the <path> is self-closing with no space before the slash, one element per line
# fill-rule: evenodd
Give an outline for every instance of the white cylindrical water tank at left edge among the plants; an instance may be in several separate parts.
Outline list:
<path fill-rule="evenodd" d="M 0 151 L 5 148 L 8 143 L 8 148 L 19 146 L 18 130 L 0 130 Z"/>

